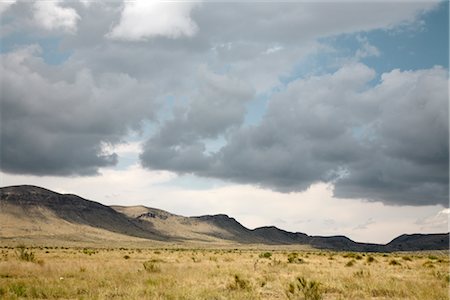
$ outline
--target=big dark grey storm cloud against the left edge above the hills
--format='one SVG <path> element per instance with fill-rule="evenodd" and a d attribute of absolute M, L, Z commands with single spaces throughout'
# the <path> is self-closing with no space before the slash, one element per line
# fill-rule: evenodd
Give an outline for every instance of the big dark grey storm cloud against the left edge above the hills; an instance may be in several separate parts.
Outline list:
<path fill-rule="evenodd" d="M 1 168 L 25 174 L 94 174 L 114 165 L 104 143 L 120 142 L 156 109 L 151 85 L 126 74 L 93 78 L 88 69 L 73 81 L 50 79 L 40 48 L 2 55 Z"/>

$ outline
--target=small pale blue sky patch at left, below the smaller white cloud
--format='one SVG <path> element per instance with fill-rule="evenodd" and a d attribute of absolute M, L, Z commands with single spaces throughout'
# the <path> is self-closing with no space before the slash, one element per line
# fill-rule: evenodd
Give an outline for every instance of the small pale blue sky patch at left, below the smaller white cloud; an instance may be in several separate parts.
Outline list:
<path fill-rule="evenodd" d="M 35 44 L 41 47 L 41 57 L 46 64 L 60 65 L 68 60 L 73 53 L 72 50 L 60 47 L 61 40 L 59 37 L 36 38 L 23 33 L 11 34 L 2 37 L 0 52 L 8 53 L 18 48 Z"/>

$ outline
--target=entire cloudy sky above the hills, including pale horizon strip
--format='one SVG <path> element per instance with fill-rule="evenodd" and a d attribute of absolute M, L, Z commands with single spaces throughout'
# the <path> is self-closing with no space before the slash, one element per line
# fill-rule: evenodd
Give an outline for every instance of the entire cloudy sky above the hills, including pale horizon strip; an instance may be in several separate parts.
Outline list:
<path fill-rule="evenodd" d="M 385 243 L 448 231 L 447 1 L 2 1 L 1 185 Z"/>

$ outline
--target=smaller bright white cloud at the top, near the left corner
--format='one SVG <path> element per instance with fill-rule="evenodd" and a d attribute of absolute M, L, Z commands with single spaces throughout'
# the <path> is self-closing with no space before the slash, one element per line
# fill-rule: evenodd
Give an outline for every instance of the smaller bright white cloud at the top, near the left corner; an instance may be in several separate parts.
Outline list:
<path fill-rule="evenodd" d="M 37 1 L 34 3 L 34 20 L 47 30 L 63 29 L 74 32 L 80 16 L 75 9 L 60 6 L 61 1 Z"/>

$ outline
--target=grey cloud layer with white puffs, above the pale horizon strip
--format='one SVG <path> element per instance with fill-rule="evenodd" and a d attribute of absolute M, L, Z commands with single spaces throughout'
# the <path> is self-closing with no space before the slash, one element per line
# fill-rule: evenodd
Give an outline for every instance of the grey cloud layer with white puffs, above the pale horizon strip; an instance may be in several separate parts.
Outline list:
<path fill-rule="evenodd" d="M 448 62 L 361 62 L 383 59 L 364 33 L 414 34 L 438 2 L 5 3 L 4 172 L 96 174 L 138 132 L 148 169 L 448 206 Z"/>

